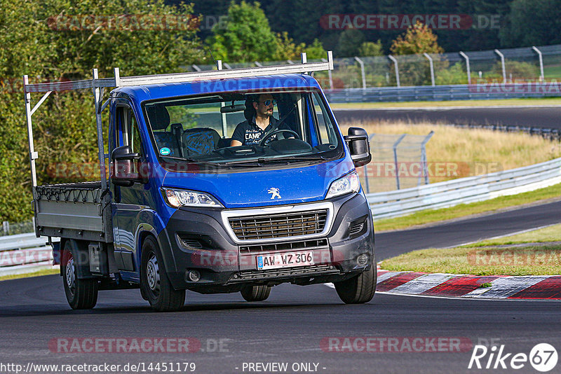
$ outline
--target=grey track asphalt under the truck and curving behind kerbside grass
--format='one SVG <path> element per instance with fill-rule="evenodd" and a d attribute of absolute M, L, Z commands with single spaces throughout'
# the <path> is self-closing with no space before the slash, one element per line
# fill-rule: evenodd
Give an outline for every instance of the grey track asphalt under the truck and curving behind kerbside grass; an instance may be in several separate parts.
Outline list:
<path fill-rule="evenodd" d="M 377 252 L 384 257 L 419 247 L 447 247 L 559 222 L 560 204 L 446 226 L 384 233 L 377 236 Z M 126 363 L 144 363 L 148 368 L 149 363 L 154 367 L 158 362 L 194 362 L 195 373 L 275 373 L 244 370 L 244 363 L 285 362 L 289 370 L 281 373 L 473 373 L 468 363 L 472 345 L 478 342 L 504 345 L 505 353 L 529 354 L 541 342 L 561 349 L 560 305 L 553 301 L 458 300 L 380 293 L 366 305 L 343 305 L 335 291 L 325 285 L 283 284 L 274 287 L 269 300 L 262 303 L 246 303 L 238 293 L 187 293 L 182 312 L 162 314 L 152 312 L 138 290 L 123 290 L 100 292 L 94 310 L 72 311 L 57 275 L 15 279 L 0 282 L 0 372 L 13 372 L 3 369 L 2 363 L 24 367 L 28 363 L 114 363 L 120 364 L 123 372 L 122 365 Z M 328 338 L 344 342 L 342 337 L 365 336 L 381 341 L 398 338 L 398 352 L 330 352 L 329 345 L 322 345 Z M 73 338 L 158 337 L 194 338 L 201 343 L 201 349 L 182 354 L 94 354 L 76 352 L 76 347 L 72 353 L 65 351 L 65 347 L 72 349 L 72 342 L 78 341 Z M 460 338 L 467 345 L 461 345 L 460 352 L 409 352 L 403 342 L 411 342 L 414 337 L 425 342 L 432 338 L 440 338 L 433 342 Z M 217 348 L 220 341 L 222 349 Z M 353 350 L 364 345 L 338 347 Z M 433 349 L 430 342 L 426 347 Z M 446 347 L 449 345 L 437 350 Z M 488 358 L 489 354 L 481 360 L 484 366 Z M 312 370 L 292 370 L 295 363 L 312 363 Z M 313 363 L 318 365 L 316 371 Z M 561 363 L 557 364 L 557 372 L 559 368 Z M 181 369 L 189 371 L 183 370 L 184 366 Z M 52 368 L 32 371 L 54 372 Z M 72 371 L 78 372 L 93 371 Z M 156 371 L 146 371 L 150 372 Z M 517 372 L 535 373 L 529 363 Z"/>

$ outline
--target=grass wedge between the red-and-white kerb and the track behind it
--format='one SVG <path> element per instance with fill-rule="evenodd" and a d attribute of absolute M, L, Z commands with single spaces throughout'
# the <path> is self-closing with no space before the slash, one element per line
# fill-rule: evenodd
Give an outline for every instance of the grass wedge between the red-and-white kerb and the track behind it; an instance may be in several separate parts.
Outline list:
<path fill-rule="evenodd" d="M 560 240 L 561 224 L 462 247 L 412 251 L 382 261 L 381 268 L 471 275 L 559 275 L 561 245 L 555 242 Z M 520 246 L 522 243 L 527 245 Z M 496 247 L 499 245 L 504 247 Z"/>

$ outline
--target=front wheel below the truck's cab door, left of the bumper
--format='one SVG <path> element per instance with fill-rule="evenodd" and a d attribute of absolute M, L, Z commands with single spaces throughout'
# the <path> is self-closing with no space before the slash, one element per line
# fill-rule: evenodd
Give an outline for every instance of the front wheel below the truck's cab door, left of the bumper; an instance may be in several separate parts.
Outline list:
<path fill-rule="evenodd" d="M 173 289 L 158 243 L 153 237 L 147 237 L 142 243 L 140 288 L 151 307 L 158 312 L 175 312 L 185 303 L 185 290 Z"/>

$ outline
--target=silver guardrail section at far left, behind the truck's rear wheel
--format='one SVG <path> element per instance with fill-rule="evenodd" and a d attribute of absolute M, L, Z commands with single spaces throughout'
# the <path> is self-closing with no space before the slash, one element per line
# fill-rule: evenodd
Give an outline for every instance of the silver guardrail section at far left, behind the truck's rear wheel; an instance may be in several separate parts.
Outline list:
<path fill-rule="evenodd" d="M 46 242 L 46 237 L 35 233 L 0 237 L 0 276 L 56 268 L 53 248 Z"/>

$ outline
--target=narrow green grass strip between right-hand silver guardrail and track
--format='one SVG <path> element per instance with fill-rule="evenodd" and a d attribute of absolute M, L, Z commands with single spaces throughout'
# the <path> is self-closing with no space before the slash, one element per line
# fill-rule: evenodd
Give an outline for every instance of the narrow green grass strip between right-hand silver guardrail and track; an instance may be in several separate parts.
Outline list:
<path fill-rule="evenodd" d="M 461 204 L 445 209 L 424 210 L 408 216 L 396 217 L 394 219 L 381 219 L 374 223 L 374 228 L 379 231 L 399 230 L 412 226 L 424 225 L 448 219 L 458 219 L 472 214 L 483 214 L 496 212 L 499 209 L 515 207 L 518 205 L 539 202 L 541 200 L 560 198 L 561 183 L 554 186 L 541 188 L 536 191 L 520 193 L 519 195 L 502 196 L 492 200 Z"/>

